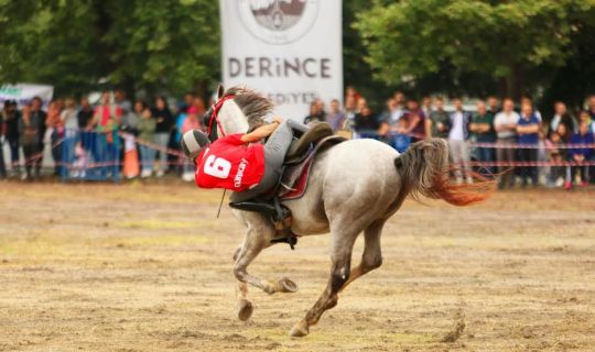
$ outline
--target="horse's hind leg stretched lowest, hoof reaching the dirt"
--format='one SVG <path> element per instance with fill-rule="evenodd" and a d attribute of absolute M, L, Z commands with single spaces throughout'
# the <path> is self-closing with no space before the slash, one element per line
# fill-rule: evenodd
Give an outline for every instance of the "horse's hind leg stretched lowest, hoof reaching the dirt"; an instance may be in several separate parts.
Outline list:
<path fill-rule="evenodd" d="M 333 249 L 331 251 L 331 278 L 316 304 L 307 311 L 304 319 L 298 322 L 290 331 L 292 337 L 304 337 L 310 327 L 318 322 L 325 310 L 337 305 L 338 292 L 349 279 L 351 267 L 351 252 L 354 243 L 360 231 L 349 232 L 349 235 L 339 235 L 333 231 Z M 339 232 L 340 233 L 340 232 Z"/>

